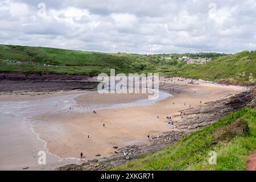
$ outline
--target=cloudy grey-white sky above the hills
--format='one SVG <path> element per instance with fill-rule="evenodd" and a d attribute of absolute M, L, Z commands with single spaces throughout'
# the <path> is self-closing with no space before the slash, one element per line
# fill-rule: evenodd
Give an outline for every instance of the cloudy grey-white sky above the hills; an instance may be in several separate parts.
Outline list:
<path fill-rule="evenodd" d="M 101 52 L 256 49 L 256 0 L 0 0 L 0 44 Z"/>

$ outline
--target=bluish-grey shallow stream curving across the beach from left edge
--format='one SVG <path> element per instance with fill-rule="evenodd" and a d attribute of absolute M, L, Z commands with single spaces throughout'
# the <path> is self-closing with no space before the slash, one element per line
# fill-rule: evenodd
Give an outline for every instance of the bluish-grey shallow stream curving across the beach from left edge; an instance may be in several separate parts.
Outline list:
<path fill-rule="evenodd" d="M 68 111 L 72 108 L 72 113 L 84 113 L 86 111 L 101 110 L 101 109 L 113 109 L 118 107 L 133 107 L 133 106 L 146 106 L 154 104 L 160 100 L 164 100 L 172 95 L 167 92 L 159 91 L 159 97 L 157 100 L 138 100 L 135 102 L 129 102 L 125 104 L 112 104 L 112 105 L 78 105 L 74 101 L 74 98 L 87 94 L 88 92 L 81 94 L 69 94 L 65 96 L 55 96 L 51 98 L 44 98 L 41 100 L 30 101 L 0 101 L 0 114 L 32 117 L 34 115 L 44 113 L 61 113 Z"/>

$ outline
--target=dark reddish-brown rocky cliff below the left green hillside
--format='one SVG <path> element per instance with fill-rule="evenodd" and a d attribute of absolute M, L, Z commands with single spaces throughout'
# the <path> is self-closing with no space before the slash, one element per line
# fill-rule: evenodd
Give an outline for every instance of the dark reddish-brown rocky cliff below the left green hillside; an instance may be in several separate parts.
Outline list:
<path fill-rule="evenodd" d="M 92 77 L 79 75 L 25 75 L 23 73 L 1 73 L 0 92 L 30 91 L 55 92 L 59 90 L 95 90 L 98 82 Z"/>

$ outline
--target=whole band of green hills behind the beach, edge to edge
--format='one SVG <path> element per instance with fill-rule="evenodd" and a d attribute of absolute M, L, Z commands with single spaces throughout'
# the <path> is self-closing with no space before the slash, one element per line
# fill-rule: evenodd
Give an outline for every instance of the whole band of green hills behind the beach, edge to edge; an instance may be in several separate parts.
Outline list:
<path fill-rule="evenodd" d="M 171 60 L 163 57 L 172 57 Z M 178 57 L 208 57 L 213 61 L 203 65 L 187 64 Z M 100 53 L 67 49 L 0 45 L 0 59 L 35 61 L 35 63 L 64 67 L 6 63 L 0 60 L 0 72 L 62 73 L 96 76 L 109 73 L 159 73 L 160 76 L 183 76 L 204 80 L 256 82 L 256 51 L 243 51 L 234 55 L 221 53 L 185 53 L 139 55 L 127 53 Z"/>

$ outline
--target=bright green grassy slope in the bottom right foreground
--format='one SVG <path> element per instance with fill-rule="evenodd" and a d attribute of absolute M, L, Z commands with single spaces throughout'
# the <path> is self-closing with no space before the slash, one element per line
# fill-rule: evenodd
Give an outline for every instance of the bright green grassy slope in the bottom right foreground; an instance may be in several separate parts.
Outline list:
<path fill-rule="evenodd" d="M 214 144 L 213 132 L 243 118 L 249 134 L 237 136 L 229 142 Z M 245 170 L 247 154 L 256 146 L 256 110 L 243 108 L 203 130 L 182 138 L 162 151 L 123 164 L 112 170 Z M 217 164 L 209 165 L 209 152 L 217 152 Z"/>

